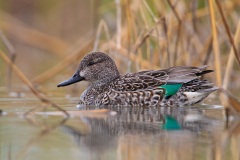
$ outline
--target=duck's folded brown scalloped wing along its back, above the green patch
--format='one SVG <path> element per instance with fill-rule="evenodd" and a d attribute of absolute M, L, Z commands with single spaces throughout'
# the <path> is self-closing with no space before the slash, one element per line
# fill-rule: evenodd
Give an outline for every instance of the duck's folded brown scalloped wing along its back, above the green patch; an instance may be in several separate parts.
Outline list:
<path fill-rule="evenodd" d="M 138 91 L 156 88 L 164 84 L 184 84 L 201 75 L 212 72 L 207 66 L 192 67 L 180 66 L 164 70 L 147 70 L 137 73 L 128 73 L 116 80 L 111 88 L 115 91 Z"/>

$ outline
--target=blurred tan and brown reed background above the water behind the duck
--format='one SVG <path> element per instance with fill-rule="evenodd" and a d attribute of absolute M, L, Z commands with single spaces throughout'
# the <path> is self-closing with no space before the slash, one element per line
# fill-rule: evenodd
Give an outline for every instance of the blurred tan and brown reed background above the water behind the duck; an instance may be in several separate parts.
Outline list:
<path fill-rule="evenodd" d="M 208 79 L 239 94 L 239 15 L 239 0 L 0 1 L 0 49 L 48 95 L 80 94 L 85 83 L 56 85 L 92 50 L 107 52 L 123 74 L 209 65 Z M 27 92 L 2 58 L 0 91 Z"/>

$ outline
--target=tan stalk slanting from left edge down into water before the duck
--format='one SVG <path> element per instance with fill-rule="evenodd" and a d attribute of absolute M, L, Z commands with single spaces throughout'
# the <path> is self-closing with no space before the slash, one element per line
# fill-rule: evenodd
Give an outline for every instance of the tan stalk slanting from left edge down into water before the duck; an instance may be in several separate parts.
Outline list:
<path fill-rule="evenodd" d="M 2 57 L 2 59 L 6 62 L 6 64 L 8 64 L 13 72 L 15 72 L 15 74 L 23 81 L 24 84 L 26 84 L 28 86 L 28 88 L 32 91 L 32 93 L 39 98 L 42 102 L 51 105 L 53 108 L 56 108 L 59 111 L 62 111 L 66 117 L 69 117 L 69 114 L 62 109 L 61 107 L 59 107 L 57 104 L 55 104 L 54 102 L 50 101 L 47 97 L 45 97 L 44 95 L 40 94 L 33 86 L 33 84 L 27 79 L 27 77 L 23 74 L 23 72 L 18 69 L 18 67 L 12 63 L 12 61 L 3 53 L 2 50 L 0 50 L 0 57 Z M 38 108 L 38 107 L 36 107 Z M 42 109 L 42 108 L 41 108 Z M 35 109 L 34 109 L 35 110 Z M 26 113 L 26 115 L 32 114 L 31 110 L 29 112 Z"/>

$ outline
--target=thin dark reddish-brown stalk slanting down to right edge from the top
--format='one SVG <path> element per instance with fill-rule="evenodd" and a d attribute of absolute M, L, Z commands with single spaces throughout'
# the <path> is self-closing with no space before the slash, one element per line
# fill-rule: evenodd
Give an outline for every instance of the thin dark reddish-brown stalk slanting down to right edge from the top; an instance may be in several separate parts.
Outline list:
<path fill-rule="evenodd" d="M 223 13 L 223 10 L 222 10 L 222 6 L 221 6 L 221 2 L 219 2 L 219 0 L 216 0 L 216 3 L 217 3 L 218 10 L 219 10 L 219 12 L 220 12 L 220 15 L 221 15 L 221 18 L 222 18 L 224 27 L 225 27 L 225 29 L 226 29 L 226 32 L 227 32 L 229 41 L 230 41 L 230 43 L 231 43 L 231 45 L 232 45 L 232 48 L 233 48 L 233 50 L 234 50 L 234 54 L 235 54 L 235 56 L 236 56 L 236 58 L 237 58 L 238 64 L 240 65 L 240 57 L 239 57 L 237 48 L 236 48 L 236 46 L 235 46 L 235 44 L 234 44 L 234 40 L 233 40 L 233 38 L 232 38 L 232 33 L 231 33 L 231 31 L 230 31 L 230 28 L 229 28 L 229 26 L 228 26 L 228 24 L 227 24 L 227 21 L 226 21 L 226 18 L 225 18 L 225 16 L 224 16 L 224 13 Z"/>

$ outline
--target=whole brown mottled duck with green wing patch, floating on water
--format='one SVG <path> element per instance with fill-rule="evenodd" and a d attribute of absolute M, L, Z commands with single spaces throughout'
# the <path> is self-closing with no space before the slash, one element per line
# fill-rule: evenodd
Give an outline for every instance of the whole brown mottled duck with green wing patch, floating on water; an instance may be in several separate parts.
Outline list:
<path fill-rule="evenodd" d="M 58 84 L 91 82 L 82 93 L 83 106 L 186 106 L 196 104 L 217 90 L 201 75 L 207 66 L 171 67 L 120 75 L 115 62 L 103 52 L 92 52 L 80 62 L 76 73 Z"/>

